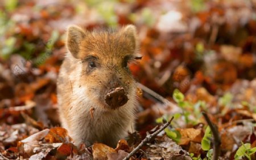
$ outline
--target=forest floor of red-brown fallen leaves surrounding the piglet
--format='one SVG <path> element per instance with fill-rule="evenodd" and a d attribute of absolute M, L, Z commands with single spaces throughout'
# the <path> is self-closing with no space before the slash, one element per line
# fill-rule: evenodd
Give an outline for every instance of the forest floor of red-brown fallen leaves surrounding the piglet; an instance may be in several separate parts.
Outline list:
<path fill-rule="evenodd" d="M 0 159 L 123 159 L 171 117 L 131 159 L 256 159 L 255 0 L 6 0 L 0 11 Z M 77 147 L 60 127 L 71 24 L 137 27 L 137 132 L 115 149 Z"/>

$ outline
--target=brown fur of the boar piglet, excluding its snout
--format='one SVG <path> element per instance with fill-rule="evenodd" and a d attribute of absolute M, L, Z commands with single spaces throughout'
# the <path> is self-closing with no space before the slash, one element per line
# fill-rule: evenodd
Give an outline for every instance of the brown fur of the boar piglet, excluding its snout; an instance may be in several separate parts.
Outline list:
<path fill-rule="evenodd" d="M 136 56 L 136 29 L 127 25 L 118 32 L 89 32 L 69 27 L 67 48 L 57 80 L 61 124 L 76 145 L 88 141 L 115 146 L 134 129 L 136 87 L 125 66 Z M 89 67 L 92 60 L 97 66 L 93 70 Z M 110 109 L 104 96 L 118 86 L 125 88 L 129 100 L 118 109 Z"/>

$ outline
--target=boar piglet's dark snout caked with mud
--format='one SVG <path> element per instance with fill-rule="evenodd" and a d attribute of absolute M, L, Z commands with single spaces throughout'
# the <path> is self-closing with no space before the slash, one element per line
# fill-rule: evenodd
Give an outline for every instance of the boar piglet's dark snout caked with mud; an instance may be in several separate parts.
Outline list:
<path fill-rule="evenodd" d="M 112 88 L 105 95 L 105 102 L 112 108 L 117 109 L 127 103 L 128 97 L 122 87 Z"/>

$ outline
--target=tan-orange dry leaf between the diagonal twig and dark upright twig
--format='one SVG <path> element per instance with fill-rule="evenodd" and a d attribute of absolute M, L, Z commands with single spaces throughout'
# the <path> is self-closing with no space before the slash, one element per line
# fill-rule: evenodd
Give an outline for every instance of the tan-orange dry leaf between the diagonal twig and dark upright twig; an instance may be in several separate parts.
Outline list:
<path fill-rule="evenodd" d="M 201 142 L 204 137 L 204 133 L 202 129 L 195 129 L 195 128 L 185 128 L 185 129 L 176 129 L 180 132 L 181 138 L 179 145 L 187 145 L 189 142 Z"/>

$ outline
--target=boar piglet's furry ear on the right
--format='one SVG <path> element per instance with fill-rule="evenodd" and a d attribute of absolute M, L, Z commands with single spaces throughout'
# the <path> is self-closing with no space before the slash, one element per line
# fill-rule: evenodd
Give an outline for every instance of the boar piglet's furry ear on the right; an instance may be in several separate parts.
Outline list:
<path fill-rule="evenodd" d="M 138 40 L 137 40 L 137 31 L 136 27 L 134 25 L 126 25 L 126 27 L 123 29 L 123 33 L 129 38 L 130 45 L 132 49 L 135 51 L 138 47 Z"/>

